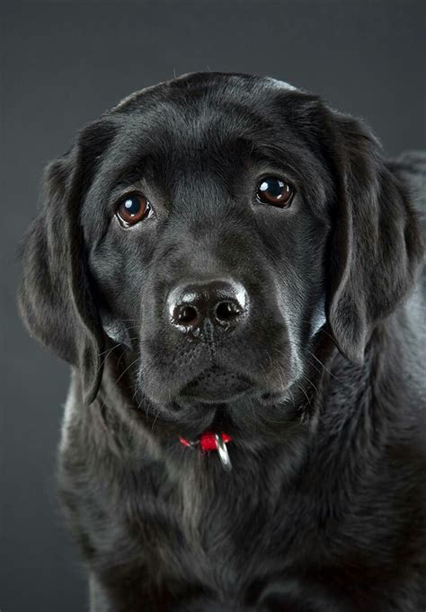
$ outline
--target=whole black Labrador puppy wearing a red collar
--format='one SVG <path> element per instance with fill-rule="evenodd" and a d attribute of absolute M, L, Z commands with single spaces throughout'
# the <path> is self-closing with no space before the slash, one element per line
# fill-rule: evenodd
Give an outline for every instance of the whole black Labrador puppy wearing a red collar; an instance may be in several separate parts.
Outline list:
<path fill-rule="evenodd" d="M 93 612 L 426 607 L 425 178 L 318 97 L 217 73 L 49 165 L 20 304 L 74 367 Z"/>

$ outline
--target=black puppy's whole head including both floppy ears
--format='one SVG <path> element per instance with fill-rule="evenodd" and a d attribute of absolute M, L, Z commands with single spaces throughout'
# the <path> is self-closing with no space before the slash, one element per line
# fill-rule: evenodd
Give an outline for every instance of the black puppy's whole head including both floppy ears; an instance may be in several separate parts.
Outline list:
<path fill-rule="evenodd" d="M 129 398 L 164 421 L 203 430 L 247 404 L 288 418 L 324 338 L 360 362 L 420 256 L 358 121 L 273 79 L 188 75 L 133 94 L 49 166 L 22 313 L 88 401 L 113 343 Z"/>

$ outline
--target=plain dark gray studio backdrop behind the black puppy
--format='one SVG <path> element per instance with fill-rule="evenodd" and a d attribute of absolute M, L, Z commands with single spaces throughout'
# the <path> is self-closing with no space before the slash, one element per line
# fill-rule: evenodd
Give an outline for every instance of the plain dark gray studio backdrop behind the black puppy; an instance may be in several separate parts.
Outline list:
<path fill-rule="evenodd" d="M 425 143 L 424 1 L 14 3 L 2 35 L 0 608 L 87 610 L 55 492 L 68 368 L 23 331 L 17 244 L 43 166 L 128 93 L 194 70 L 273 75 L 363 116 L 389 155 Z M 3 275 L 4 272 L 4 275 Z"/>

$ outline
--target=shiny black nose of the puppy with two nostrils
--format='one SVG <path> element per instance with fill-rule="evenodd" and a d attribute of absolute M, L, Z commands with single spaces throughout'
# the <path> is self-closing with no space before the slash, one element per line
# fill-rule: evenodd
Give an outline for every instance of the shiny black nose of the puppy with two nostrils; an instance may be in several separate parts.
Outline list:
<path fill-rule="evenodd" d="M 179 285 L 169 294 L 167 306 L 171 323 L 181 332 L 202 333 L 207 323 L 229 330 L 248 314 L 243 285 L 228 280 Z"/>

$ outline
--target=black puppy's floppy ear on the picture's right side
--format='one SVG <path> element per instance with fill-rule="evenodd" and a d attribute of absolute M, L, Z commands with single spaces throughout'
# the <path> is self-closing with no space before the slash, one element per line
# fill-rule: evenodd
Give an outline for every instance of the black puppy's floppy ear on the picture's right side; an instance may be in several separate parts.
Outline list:
<path fill-rule="evenodd" d="M 408 191 L 376 137 L 359 120 L 331 116 L 339 184 L 326 315 L 338 348 L 360 363 L 372 325 L 413 286 L 422 238 Z"/>

